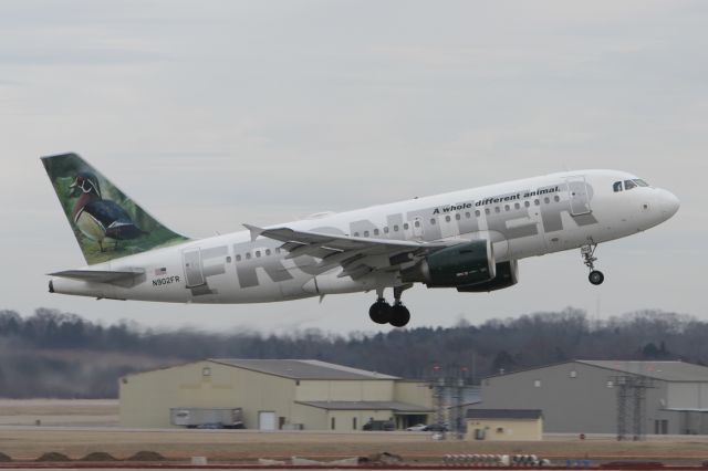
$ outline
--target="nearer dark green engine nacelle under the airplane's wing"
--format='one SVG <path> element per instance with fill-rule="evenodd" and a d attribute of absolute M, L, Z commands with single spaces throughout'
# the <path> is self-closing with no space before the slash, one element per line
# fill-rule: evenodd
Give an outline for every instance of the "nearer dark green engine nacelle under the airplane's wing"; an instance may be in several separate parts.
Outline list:
<path fill-rule="evenodd" d="M 448 247 L 427 255 L 400 272 L 404 282 L 421 282 L 428 287 L 457 287 L 483 283 L 496 275 L 494 254 L 487 240 Z"/>

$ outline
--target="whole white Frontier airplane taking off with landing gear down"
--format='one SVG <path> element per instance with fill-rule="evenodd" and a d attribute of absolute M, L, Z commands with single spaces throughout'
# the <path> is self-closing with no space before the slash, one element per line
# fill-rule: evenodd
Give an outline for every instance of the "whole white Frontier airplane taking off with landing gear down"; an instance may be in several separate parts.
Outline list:
<path fill-rule="evenodd" d="M 632 174 L 579 170 L 190 239 L 79 155 L 41 160 L 86 261 L 49 273 L 51 293 L 215 304 L 374 291 L 371 320 L 395 327 L 410 320 L 402 294 L 415 283 L 502 290 L 529 257 L 581 249 L 600 285 L 597 244 L 657 226 L 680 205 Z"/>

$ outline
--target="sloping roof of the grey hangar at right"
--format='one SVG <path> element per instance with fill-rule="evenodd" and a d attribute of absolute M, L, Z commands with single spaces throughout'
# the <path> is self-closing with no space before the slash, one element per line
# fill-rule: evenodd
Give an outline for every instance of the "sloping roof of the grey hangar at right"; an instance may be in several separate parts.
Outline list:
<path fill-rule="evenodd" d="M 623 362 L 579 359 L 577 363 L 646 376 L 664 381 L 708 381 L 708 367 L 684 362 Z"/>

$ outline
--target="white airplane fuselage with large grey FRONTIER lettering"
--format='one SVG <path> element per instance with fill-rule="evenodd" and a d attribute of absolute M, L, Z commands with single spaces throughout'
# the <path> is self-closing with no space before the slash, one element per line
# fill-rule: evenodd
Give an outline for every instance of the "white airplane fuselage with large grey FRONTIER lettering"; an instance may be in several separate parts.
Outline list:
<path fill-rule="evenodd" d="M 376 240 L 490 240 L 503 262 L 576 249 L 623 238 L 670 218 L 678 200 L 666 190 L 636 187 L 614 191 L 616 181 L 636 179 L 614 170 L 582 170 L 416 198 L 278 224 L 293 230 Z M 322 272 L 317 260 L 288 258 L 282 242 L 242 231 L 156 249 L 85 266 L 140 270 L 123 283 L 54 279 L 56 293 L 178 303 L 259 303 L 368 291 L 377 278 Z M 385 261 L 383 261 L 385 263 Z M 400 283 L 397 273 L 384 280 Z"/>

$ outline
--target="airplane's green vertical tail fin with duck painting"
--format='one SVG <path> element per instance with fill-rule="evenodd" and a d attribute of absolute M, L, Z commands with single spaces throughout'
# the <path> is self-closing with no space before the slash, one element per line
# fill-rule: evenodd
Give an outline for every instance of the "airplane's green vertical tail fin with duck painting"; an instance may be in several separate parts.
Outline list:
<path fill-rule="evenodd" d="M 76 154 L 42 157 L 87 264 L 185 242 Z"/>

